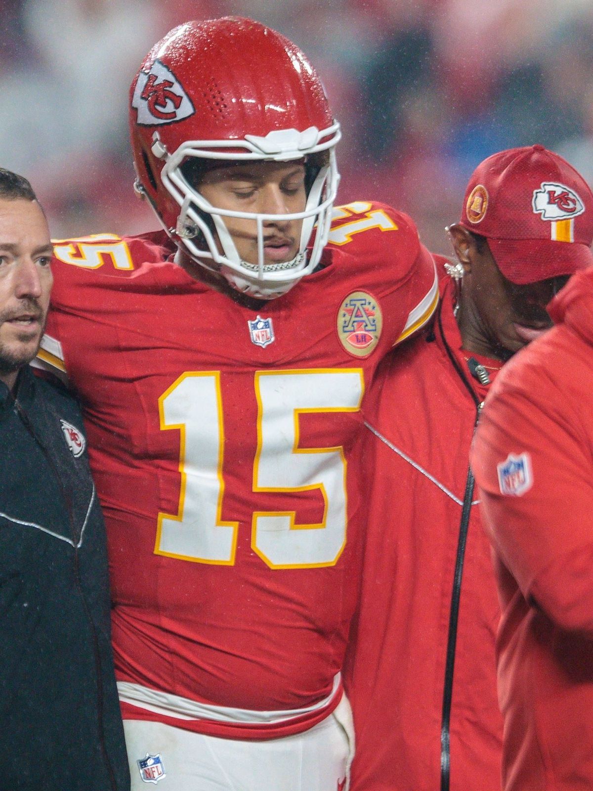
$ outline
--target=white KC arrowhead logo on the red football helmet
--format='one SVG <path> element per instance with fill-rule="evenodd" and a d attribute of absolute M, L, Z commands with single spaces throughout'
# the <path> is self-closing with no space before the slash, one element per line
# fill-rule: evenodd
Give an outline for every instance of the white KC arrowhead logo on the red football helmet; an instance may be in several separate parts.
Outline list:
<path fill-rule="evenodd" d="M 148 72 L 138 74 L 132 107 L 138 111 L 137 123 L 143 127 L 183 121 L 195 113 L 183 85 L 160 60 L 155 60 Z"/>

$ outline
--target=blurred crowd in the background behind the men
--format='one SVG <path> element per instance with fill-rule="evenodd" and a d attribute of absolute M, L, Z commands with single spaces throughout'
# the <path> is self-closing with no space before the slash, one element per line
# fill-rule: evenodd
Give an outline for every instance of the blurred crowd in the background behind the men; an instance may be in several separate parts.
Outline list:
<path fill-rule="evenodd" d="M 169 28 L 226 14 L 312 59 L 343 127 L 338 202 L 406 210 L 435 252 L 494 151 L 540 142 L 593 183 L 593 0 L 0 0 L 0 165 L 55 237 L 156 227 L 127 89 Z"/>

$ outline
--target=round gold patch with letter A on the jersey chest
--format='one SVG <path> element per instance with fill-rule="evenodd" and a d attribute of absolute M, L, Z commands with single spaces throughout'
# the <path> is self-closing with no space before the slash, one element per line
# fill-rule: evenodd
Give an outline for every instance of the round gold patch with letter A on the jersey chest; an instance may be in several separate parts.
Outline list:
<path fill-rule="evenodd" d="M 375 349 L 383 329 L 383 315 L 375 297 L 366 291 L 353 291 L 338 310 L 338 338 L 349 354 L 368 357 Z"/>

